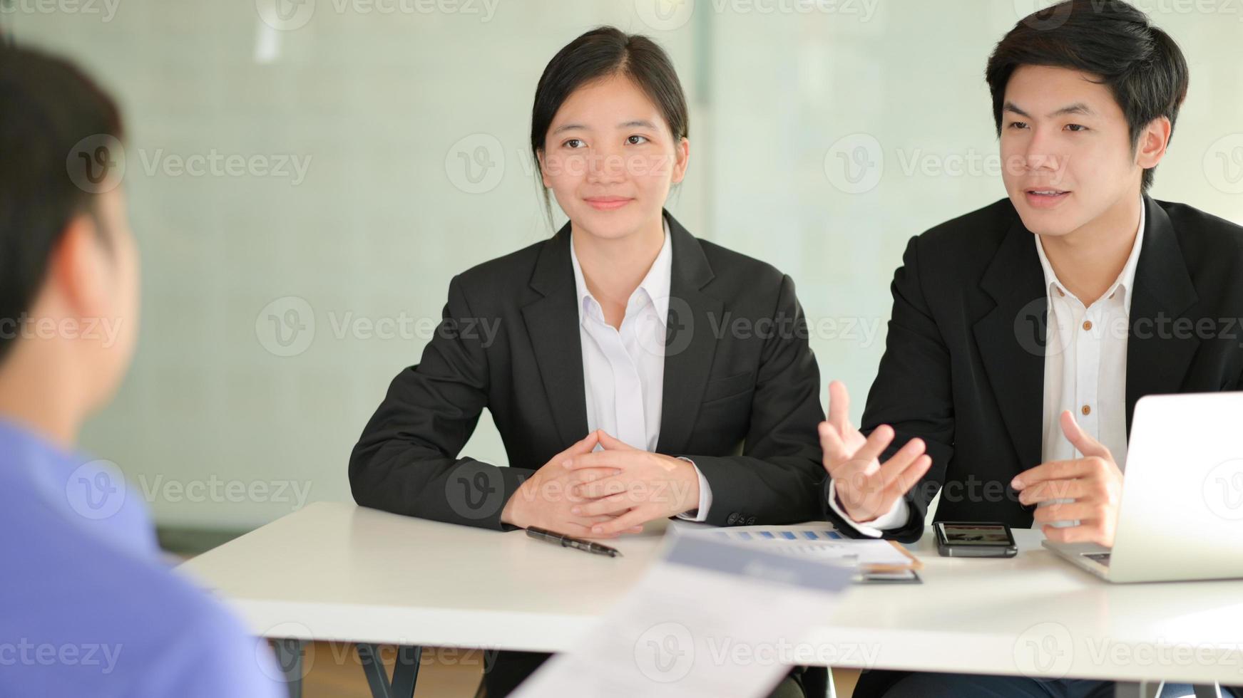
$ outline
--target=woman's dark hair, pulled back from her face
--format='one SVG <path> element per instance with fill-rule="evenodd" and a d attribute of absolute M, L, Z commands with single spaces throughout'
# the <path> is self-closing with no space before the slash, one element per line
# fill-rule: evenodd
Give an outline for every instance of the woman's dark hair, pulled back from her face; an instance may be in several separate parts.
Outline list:
<path fill-rule="evenodd" d="M 614 26 L 595 27 L 571 41 L 548 61 L 536 86 L 531 108 L 531 153 L 541 173 L 539 154 L 557 111 L 579 87 L 624 75 L 651 99 L 669 124 L 675 140 L 690 135 L 686 94 L 669 55 L 655 41 L 638 34 L 625 34 Z M 552 204 L 544 190 L 544 207 L 552 220 Z"/>

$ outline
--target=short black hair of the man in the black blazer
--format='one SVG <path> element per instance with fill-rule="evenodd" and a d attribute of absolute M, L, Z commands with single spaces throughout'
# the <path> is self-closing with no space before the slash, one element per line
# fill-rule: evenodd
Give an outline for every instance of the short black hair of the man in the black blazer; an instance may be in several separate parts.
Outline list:
<path fill-rule="evenodd" d="M 1132 150 L 1141 130 L 1160 117 L 1170 119 L 1172 138 L 1191 81 L 1187 58 L 1175 40 L 1122 0 L 1066 0 L 1014 25 L 993 50 L 984 72 L 998 135 L 1006 84 L 1019 66 L 1095 76 L 1122 108 Z M 1152 186 L 1154 169 L 1144 171 L 1144 191 Z"/>

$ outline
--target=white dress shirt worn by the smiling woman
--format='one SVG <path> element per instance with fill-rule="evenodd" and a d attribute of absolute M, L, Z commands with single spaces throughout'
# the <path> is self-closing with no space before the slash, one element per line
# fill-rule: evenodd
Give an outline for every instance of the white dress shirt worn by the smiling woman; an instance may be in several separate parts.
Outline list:
<path fill-rule="evenodd" d="M 578 263 L 574 238 L 569 238 L 578 292 L 579 339 L 583 347 L 583 384 L 587 394 L 587 428 L 603 428 L 617 440 L 641 451 L 655 452 L 660 440 L 661 397 L 665 380 L 665 333 L 674 250 L 669 224 L 665 243 L 639 287 L 626 302 L 620 329 L 604 319 L 604 309 L 592 297 Z M 597 446 L 597 450 L 600 450 Z M 679 514 L 687 520 L 707 519 L 712 491 L 694 461 L 699 476 L 699 509 Z"/>

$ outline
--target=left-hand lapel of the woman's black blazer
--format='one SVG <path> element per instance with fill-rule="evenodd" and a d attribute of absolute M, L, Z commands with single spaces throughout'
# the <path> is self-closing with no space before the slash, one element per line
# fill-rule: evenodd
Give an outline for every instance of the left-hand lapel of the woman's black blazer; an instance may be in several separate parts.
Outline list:
<path fill-rule="evenodd" d="M 539 365 L 539 378 L 562 443 L 587 436 L 587 391 L 579 337 L 574 267 L 569 261 L 569 224 L 544 242 L 531 274 L 531 288 L 543 298 L 522 308 Z"/>

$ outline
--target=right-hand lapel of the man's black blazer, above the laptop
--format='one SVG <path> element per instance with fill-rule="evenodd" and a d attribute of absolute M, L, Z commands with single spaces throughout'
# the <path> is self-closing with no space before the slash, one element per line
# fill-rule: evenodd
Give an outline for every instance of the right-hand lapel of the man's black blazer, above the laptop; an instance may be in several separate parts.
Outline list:
<path fill-rule="evenodd" d="M 1187 274 L 1173 224 L 1154 200 L 1145 197 L 1144 205 L 1147 206 L 1147 227 L 1135 270 L 1126 345 L 1127 435 L 1140 397 L 1178 392 L 1199 347 L 1193 329 L 1180 332 L 1175 325 L 1196 304 L 1198 296 Z"/>

